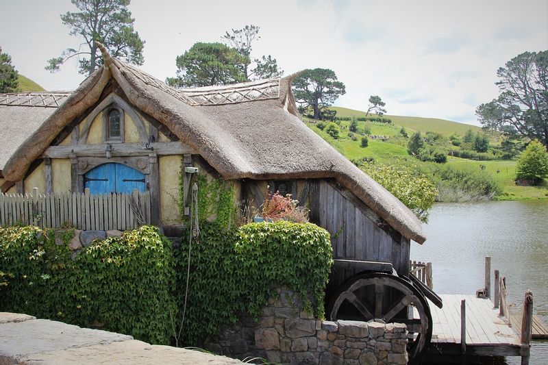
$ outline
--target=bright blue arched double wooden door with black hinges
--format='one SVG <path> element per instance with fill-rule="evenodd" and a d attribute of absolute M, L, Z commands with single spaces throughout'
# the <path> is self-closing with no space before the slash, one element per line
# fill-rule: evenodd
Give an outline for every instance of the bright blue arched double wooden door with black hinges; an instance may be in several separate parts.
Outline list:
<path fill-rule="evenodd" d="M 91 194 L 128 194 L 134 189 L 144 192 L 145 175 L 129 166 L 109 162 L 88 171 L 84 175 L 84 187 L 89 188 Z"/>

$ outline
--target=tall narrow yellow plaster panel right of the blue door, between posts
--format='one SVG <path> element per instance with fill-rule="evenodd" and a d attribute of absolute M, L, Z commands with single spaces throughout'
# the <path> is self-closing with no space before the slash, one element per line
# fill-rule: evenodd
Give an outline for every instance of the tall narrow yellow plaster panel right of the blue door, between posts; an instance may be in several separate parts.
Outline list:
<path fill-rule="evenodd" d="M 179 214 L 179 173 L 182 156 L 170 155 L 158 158 L 160 171 L 160 221 L 162 225 L 178 225 Z"/>

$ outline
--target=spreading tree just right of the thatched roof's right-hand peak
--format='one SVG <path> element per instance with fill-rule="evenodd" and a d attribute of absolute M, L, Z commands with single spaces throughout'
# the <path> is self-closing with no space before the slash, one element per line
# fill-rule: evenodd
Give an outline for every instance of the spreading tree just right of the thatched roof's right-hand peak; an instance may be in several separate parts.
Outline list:
<path fill-rule="evenodd" d="M 323 119 L 323 112 L 344 95 L 345 84 L 329 68 L 314 68 L 303 71 L 293 80 L 293 93 L 301 108 L 312 108 L 314 119 Z"/>

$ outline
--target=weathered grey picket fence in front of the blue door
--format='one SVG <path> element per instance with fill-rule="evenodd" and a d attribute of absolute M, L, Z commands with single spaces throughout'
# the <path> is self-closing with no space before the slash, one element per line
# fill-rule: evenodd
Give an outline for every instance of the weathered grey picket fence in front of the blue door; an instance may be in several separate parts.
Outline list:
<path fill-rule="evenodd" d="M 0 225 L 71 226 L 83 230 L 135 229 L 150 223 L 150 193 L 94 195 L 58 192 L 0 194 Z"/>

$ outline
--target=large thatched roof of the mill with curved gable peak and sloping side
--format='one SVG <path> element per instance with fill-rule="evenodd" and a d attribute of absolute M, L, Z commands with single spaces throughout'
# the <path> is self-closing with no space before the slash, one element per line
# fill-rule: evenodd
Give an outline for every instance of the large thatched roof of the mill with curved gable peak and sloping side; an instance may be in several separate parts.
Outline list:
<path fill-rule="evenodd" d="M 112 58 L 88 77 L 5 165 L 10 181 L 62 128 L 99 99 L 114 77 L 127 99 L 169 127 L 225 179 L 334 178 L 406 238 L 425 240 L 421 222 L 390 192 L 340 155 L 299 118 L 290 83 L 294 75 L 223 87 L 178 90 Z"/>

